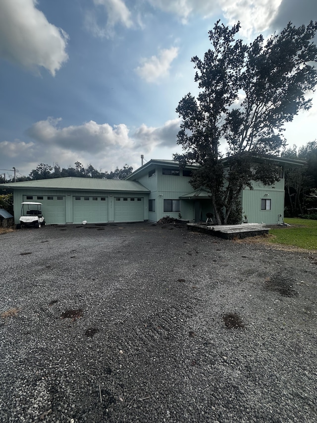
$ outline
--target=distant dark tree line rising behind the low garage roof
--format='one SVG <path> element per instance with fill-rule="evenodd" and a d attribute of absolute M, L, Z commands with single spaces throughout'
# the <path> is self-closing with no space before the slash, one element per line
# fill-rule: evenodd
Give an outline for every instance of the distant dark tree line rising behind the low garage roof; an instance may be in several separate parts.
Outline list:
<path fill-rule="evenodd" d="M 97 179 L 124 179 L 130 175 L 133 171 L 131 166 L 127 164 L 124 165 L 123 169 L 115 168 L 114 171 L 110 173 L 98 171 L 89 164 L 86 168 L 80 163 L 76 162 L 75 167 L 68 166 L 68 168 L 60 168 L 58 163 L 55 163 L 53 166 L 40 163 L 36 169 L 33 169 L 29 176 L 17 177 L 16 181 L 34 181 L 39 179 L 51 179 L 51 178 L 97 178 Z M 0 183 L 5 182 L 14 182 L 13 178 L 6 179 L 0 176 Z"/>

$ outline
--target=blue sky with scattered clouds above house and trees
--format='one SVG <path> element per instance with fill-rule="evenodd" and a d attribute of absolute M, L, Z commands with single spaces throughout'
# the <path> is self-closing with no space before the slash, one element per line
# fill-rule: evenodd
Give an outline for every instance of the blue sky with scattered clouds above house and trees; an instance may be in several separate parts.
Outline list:
<path fill-rule="evenodd" d="M 175 108 L 217 19 L 252 41 L 317 20 L 316 0 L 0 0 L 0 173 L 39 163 L 114 170 L 171 159 Z M 317 138 L 314 106 L 287 125 Z M 12 173 L 11 173 L 12 175 Z"/>

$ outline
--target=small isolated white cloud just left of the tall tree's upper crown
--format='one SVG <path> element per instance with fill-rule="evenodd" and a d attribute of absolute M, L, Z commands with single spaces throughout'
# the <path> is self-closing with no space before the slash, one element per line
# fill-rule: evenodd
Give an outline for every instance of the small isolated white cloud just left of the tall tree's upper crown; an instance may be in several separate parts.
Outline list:
<path fill-rule="evenodd" d="M 135 71 L 147 82 L 157 82 L 162 77 L 168 75 L 171 62 L 177 55 L 177 47 L 161 50 L 159 57 L 152 56 L 150 59 L 142 59 L 142 65 L 138 66 Z"/>

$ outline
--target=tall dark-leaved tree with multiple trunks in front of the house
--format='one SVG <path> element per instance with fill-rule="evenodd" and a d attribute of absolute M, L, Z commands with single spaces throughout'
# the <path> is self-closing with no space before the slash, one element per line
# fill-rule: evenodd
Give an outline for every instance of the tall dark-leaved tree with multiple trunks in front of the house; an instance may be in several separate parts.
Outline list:
<path fill-rule="evenodd" d="M 311 107 L 305 94 L 317 83 L 317 22 L 298 28 L 289 23 L 280 34 L 267 41 L 260 35 L 249 45 L 237 38 L 239 29 L 239 22 L 232 28 L 215 23 L 211 49 L 203 60 L 192 58 L 199 94 L 188 93 L 176 108 L 184 153 L 174 160 L 200 165 L 191 183 L 209 188 L 218 224 L 229 223 L 243 188 L 279 179 L 267 158 L 285 146 L 283 124 Z M 226 142 L 226 157 L 220 142 Z"/>

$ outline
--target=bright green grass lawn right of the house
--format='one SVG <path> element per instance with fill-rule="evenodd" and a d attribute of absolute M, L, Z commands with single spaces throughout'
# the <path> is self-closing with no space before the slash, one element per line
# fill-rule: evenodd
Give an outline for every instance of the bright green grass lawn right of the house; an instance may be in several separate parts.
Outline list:
<path fill-rule="evenodd" d="M 285 218 L 284 222 L 291 226 L 270 229 L 269 234 L 274 235 L 270 242 L 293 245 L 310 250 L 317 249 L 317 220 Z"/>

